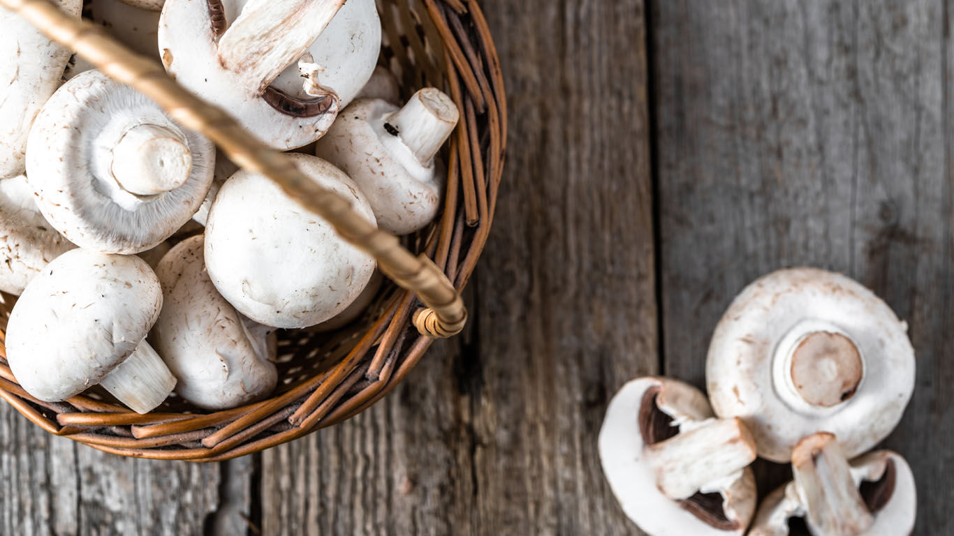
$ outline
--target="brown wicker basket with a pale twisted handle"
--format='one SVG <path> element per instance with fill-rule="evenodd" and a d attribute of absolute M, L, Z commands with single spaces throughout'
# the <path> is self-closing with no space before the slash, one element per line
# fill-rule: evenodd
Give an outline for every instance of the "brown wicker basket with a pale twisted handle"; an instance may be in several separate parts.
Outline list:
<path fill-rule="evenodd" d="M 466 317 L 458 293 L 467 284 L 487 240 L 507 138 L 500 66 L 476 0 L 378 0 L 384 30 L 381 62 L 398 76 L 403 96 L 435 86 L 450 94 L 461 110 L 461 123 L 444 155 L 449 173 L 443 216 L 402 239 L 410 251 L 433 259 L 430 263 L 422 258 L 422 266 L 410 266 L 418 261 L 410 256 L 401 258 L 403 264 L 387 262 L 407 253 L 393 237 L 349 227 L 344 221 L 350 216 L 346 206 L 325 198 L 334 196 L 303 191 L 295 183 L 296 171 L 282 168 L 285 159 L 242 137 L 231 119 L 217 115 L 217 110 L 198 111 L 201 105 L 187 102 L 192 97 L 175 87 L 158 88 L 169 82 L 160 79 L 165 78 L 164 73 L 155 72 L 152 62 L 141 62 L 89 25 L 58 19 L 44 0 L 0 0 L 0 5 L 19 10 L 44 31 L 54 28 L 53 38 L 73 47 L 104 72 L 149 94 L 176 120 L 209 135 L 243 167 L 269 175 L 286 192 L 303 197 L 300 202 L 335 224 L 342 236 L 374 254 L 383 271 L 401 283 L 384 284 L 362 319 L 337 332 L 280 332 L 280 386 L 272 398 L 217 413 L 204 413 L 174 396 L 155 412 L 138 415 L 98 388 L 66 402 L 40 402 L 17 384 L 0 347 L 0 397 L 33 423 L 52 434 L 123 456 L 227 460 L 360 413 L 404 378 L 434 337 L 453 335 L 463 327 Z M 446 278 L 437 270 L 427 272 L 434 264 Z M 391 269 L 385 270 L 387 266 Z M 403 273 L 402 267 L 406 267 Z M 443 295 L 442 281 L 446 286 Z M 405 289 L 417 291 L 430 309 L 420 309 L 415 293 Z M 441 298 L 435 298 L 447 297 L 447 293 L 456 301 L 445 298 L 446 303 L 440 303 Z M 0 327 L 4 329 L 13 300 L 2 304 Z M 455 307 L 460 318 L 442 321 L 458 311 Z"/>

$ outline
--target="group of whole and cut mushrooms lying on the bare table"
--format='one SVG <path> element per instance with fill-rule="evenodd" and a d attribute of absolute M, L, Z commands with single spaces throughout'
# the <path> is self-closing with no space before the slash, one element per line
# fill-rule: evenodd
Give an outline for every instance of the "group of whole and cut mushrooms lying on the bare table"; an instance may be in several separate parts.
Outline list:
<path fill-rule="evenodd" d="M 718 322 L 708 401 L 671 379 L 620 389 L 599 435 L 603 470 L 651 536 L 782 536 L 794 518 L 815 536 L 910 534 L 911 469 L 871 449 L 901 421 L 914 368 L 907 325 L 859 282 L 779 270 L 746 287 Z M 757 510 L 743 470 L 756 455 L 791 464 L 794 476 Z"/>

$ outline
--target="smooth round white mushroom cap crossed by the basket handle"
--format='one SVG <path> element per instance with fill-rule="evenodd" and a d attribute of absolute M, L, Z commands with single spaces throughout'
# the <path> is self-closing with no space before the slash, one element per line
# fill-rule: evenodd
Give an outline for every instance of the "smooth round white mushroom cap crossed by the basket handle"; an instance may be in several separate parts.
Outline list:
<path fill-rule="evenodd" d="M 321 158 L 289 154 L 304 175 L 374 214 L 357 185 Z M 246 170 L 218 191 L 205 231 L 205 263 L 218 292 L 240 313 L 273 327 L 306 327 L 358 298 L 375 261 L 331 225 Z"/>

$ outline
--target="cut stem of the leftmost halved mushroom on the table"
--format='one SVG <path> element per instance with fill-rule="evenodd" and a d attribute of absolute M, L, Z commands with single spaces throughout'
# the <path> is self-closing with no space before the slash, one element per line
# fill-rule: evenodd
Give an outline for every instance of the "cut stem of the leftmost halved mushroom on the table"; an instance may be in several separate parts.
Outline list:
<path fill-rule="evenodd" d="M 756 459 L 756 442 L 737 418 L 710 419 L 695 429 L 648 447 L 656 485 L 670 499 L 736 474 Z"/>

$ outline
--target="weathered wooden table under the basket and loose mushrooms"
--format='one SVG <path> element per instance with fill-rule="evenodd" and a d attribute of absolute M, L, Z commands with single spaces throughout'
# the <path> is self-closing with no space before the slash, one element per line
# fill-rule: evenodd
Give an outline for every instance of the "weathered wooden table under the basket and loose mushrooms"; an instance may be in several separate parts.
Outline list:
<path fill-rule="evenodd" d="M 612 393 L 702 385 L 730 300 L 803 264 L 910 323 L 884 444 L 916 533 L 954 533 L 950 3 L 484 5 L 511 130 L 467 333 L 353 421 L 225 464 L 116 458 L 3 406 L 0 534 L 638 534 L 596 455 Z M 760 464 L 762 491 L 784 473 Z"/>

